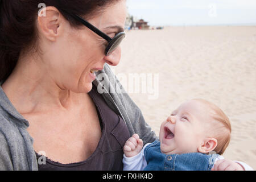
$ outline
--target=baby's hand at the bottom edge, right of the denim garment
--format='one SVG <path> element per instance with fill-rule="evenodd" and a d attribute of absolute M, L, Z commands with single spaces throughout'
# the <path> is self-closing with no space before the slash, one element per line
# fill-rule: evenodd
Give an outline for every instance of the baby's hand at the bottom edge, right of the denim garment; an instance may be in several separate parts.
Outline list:
<path fill-rule="evenodd" d="M 212 171 L 243 171 L 244 169 L 240 164 L 234 162 L 233 160 L 218 160 L 214 167 L 212 168 Z"/>

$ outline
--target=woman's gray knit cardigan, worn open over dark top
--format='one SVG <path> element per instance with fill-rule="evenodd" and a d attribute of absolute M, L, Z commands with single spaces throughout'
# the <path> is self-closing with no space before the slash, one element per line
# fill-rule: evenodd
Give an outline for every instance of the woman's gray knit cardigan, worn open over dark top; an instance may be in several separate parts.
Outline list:
<path fill-rule="evenodd" d="M 104 70 L 97 72 L 93 84 L 104 91 L 104 100 L 115 113 L 121 115 L 130 135 L 137 133 L 144 143 L 154 142 L 154 131 L 144 121 L 141 110 L 128 94 L 121 92 L 121 84 L 108 64 L 105 64 Z M 0 170 L 38 170 L 28 126 L 28 121 L 18 113 L 0 86 Z"/>

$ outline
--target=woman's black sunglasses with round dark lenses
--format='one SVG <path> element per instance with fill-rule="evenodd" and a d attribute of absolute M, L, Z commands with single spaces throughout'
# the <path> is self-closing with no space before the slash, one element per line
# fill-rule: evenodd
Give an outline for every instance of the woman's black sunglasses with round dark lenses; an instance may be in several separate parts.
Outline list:
<path fill-rule="evenodd" d="M 125 32 L 119 32 L 117 35 L 114 36 L 114 38 L 110 38 L 108 35 L 106 35 L 104 32 L 98 30 L 98 28 L 94 27 L 92 24 L 87 22 L 85 19 L 81 18 L 79 15 L 71 14 L 73 18 L 75 18 L 77 21 L 84 24 L 86 27 L 88 27 L 90 30 L 95 32 L 97 35 L 104 38 L 106 41 L 108 41 L 108 46 L 106 46 L 105 49 L 105 55 L 109 56 L 115 49 L 119 46 L 119 44 L 122 42 L 122 40 L 125 38 Z"/>

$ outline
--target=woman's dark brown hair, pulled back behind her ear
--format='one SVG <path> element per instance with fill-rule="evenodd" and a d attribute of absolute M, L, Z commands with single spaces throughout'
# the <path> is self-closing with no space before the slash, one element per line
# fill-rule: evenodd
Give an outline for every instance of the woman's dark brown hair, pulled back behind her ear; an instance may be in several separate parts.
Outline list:
<path fill-rule="evenodd" d="M 100 13 L 118 0 L 0 0 L 0 81 L 10 76 L 22 49 L 34 46 L 36 18 L 40 3 L 55 6 L 72 27 L 81 24 L 69 14 L 86 19 Z M 65 13 L 68 12 L 69 14 Z"/>

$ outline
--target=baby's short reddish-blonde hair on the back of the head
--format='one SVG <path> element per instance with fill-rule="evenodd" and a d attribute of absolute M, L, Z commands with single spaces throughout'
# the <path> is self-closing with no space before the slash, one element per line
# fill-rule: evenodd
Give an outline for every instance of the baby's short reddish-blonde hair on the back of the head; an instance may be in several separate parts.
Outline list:
<path fill-rule="evenodd" d="M 193 99 L 195 101 L 199 101 L 210 108 L 210 116 L 213 118 L 214 121 L 221 125 L 211 125 L 211 129 L 209 133 L 213 133 L 213 138 L 217 139 L 217 146 L 214 151 L 222 155 L 228 147 L 231 138 L 231 124 L 229 118 L 226 116 L 224 111 L 222 111 L 218 106 L 215 104 L 203 100 L 203 99 Z M 214 122 L 216 124 L 216 122 Z"/>

